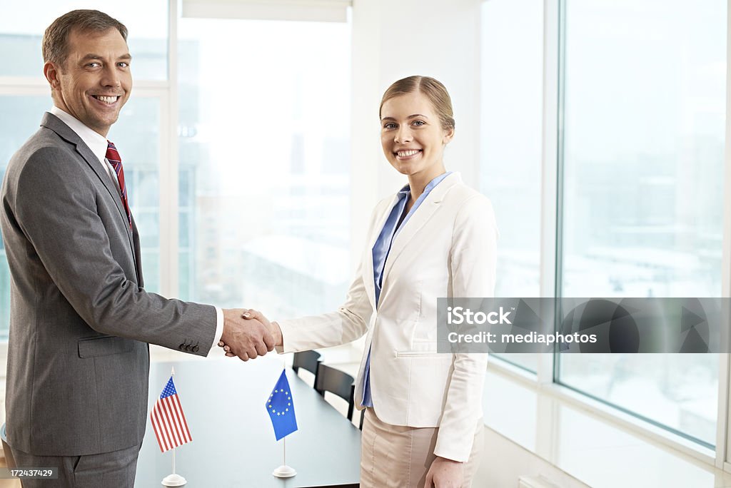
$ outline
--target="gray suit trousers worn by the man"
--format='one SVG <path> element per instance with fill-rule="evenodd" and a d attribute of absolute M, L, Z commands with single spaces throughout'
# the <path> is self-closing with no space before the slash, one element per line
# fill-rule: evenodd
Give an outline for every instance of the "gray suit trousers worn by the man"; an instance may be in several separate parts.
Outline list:
<path fill-rule="evenodd" d="M 58 479 L 23 479 L 23 488 L 132 488 L 140 447 L 86 456 L 37 456 L 10 449 L 17 469 L 58 468 Z"/>

